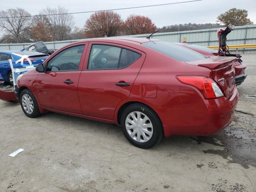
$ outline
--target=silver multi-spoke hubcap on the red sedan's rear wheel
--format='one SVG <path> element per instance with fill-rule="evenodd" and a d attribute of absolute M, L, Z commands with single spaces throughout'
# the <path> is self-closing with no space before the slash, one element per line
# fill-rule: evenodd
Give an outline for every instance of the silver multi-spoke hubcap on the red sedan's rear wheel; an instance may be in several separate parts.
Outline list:
<path fill-rule="evenodd" d="M 130 137 L 140 143 L 149 141 L 153 135 L 153 125 L 142 112 L 134 111 L 128 114 L 125 127 Z"/>

